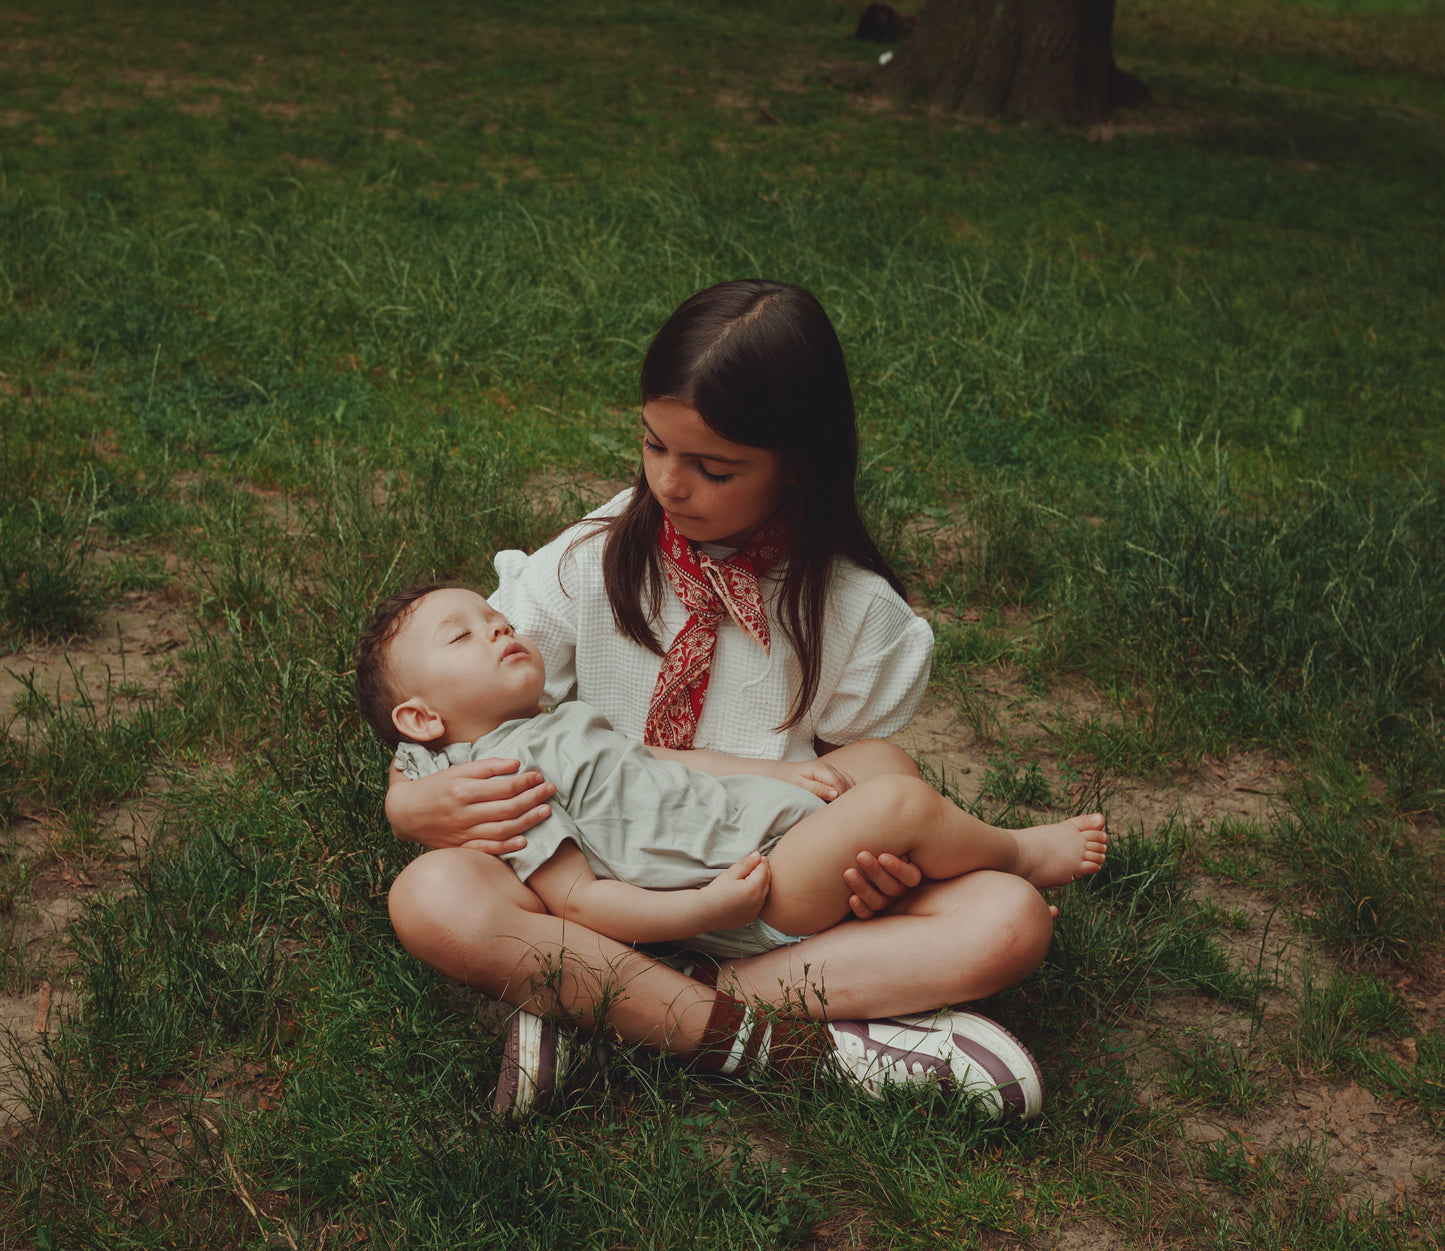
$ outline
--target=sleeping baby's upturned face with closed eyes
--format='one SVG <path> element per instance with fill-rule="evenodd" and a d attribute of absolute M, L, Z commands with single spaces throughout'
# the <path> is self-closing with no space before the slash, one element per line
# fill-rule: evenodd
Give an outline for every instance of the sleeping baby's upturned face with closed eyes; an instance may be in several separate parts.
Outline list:
<path fill-rule="evenodd" d="M 396 689 L 442 718 L 448 743 L 470 743 L 538 711 L 546 667 L 536 644 L 475 591 L 422 598 L 392 640 Z"/>

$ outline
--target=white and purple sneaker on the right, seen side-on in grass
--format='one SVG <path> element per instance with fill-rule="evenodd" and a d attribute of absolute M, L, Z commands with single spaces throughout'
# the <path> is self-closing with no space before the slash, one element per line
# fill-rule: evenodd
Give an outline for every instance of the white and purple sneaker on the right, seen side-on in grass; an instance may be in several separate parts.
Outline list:
<path fill-rule="evenodd" d="M 1043 1111 L 1043 1073 L 1029 1049 L 978 1013 L 829 1021 L 834 1066 L 867 1094 L 893 1083 L 958 1086 L 994 1120 Z"/>

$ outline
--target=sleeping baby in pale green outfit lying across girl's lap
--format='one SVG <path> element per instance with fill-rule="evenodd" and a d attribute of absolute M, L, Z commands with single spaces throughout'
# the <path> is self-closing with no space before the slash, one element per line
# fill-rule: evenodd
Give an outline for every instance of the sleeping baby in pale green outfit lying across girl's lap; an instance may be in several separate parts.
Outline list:
<path fill-rule="evenodd" d="M 860 851 L 925 877 L 1013 873 L 1035 887 L 1097 873 L 1100 815 L 987 825 L 863 741 L 824 760 L 649 748 L 594 708 L 539 708 L 545 667 L 481 595 L 423 586 L 377 611 L 358 647 L 361 712 L 409 777 L 507 757 L 556 786 L 552 815 L 504 858 L 559 917 L 618 942 L 688 940 L 720 958 L 767 951 L 850 916 Z"/>

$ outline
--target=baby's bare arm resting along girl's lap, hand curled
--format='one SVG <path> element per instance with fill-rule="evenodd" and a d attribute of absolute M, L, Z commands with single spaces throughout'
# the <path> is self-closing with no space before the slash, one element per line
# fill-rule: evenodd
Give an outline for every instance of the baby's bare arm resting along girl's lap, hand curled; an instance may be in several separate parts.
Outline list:
<path fill-rule="evenodd" d="M 772 871 L 751 852 L 704 887 L 644 890 L 600 878 L 575 842 L 564 842 L 529 878 L 548 912 L 626 943 L 672 942 L 747 925 L 762 910 Z"/>

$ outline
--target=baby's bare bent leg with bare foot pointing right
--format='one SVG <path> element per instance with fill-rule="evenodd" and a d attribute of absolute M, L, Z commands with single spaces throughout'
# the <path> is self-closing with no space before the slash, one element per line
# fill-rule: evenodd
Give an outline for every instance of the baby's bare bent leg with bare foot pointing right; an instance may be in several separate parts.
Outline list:
<path fill-rule="evenodd" d="M 1049 887 L 1097 873 L 1107 844 L 1097 815 L 1003 829 L 964 812 L 916 777 L 873 776 L 777 841 L 769 852 L 773 886 L 762 917 L 795 935 L 842 920 L 848 897 L 840 886 L 841 871 L 864 849 L 907 857 L 938 881 L 990 868 Z"/>

